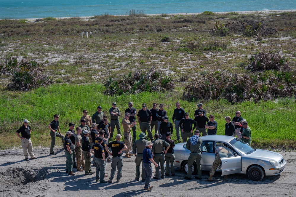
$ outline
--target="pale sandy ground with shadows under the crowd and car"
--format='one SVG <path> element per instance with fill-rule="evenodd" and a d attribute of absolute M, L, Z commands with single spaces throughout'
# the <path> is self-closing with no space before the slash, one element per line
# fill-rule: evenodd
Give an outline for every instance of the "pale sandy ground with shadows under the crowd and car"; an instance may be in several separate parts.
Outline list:
<path fill-rule="evenodd" d="M 216 181 L 207 182 L 209 172 L 202 173 L 202 180 L 184 180 L 183 172 L 175 168 L 175 177 L 151 181 L 152 192 L 144 191 L 144 183 L 135 180 L 135 157 L 124 158 L 123 177 L 119 183 L 96 183 L 95 175 L 75 176 L 65 173 L 65 153 L 56 149 L 49 155 L 49 148 L 34 149 L 37 160 L 25 161 L 22 150 L 0 151 L 0 196 L 296 196 L 296 153 L 280 152 L 287 166 L 280 175 L 264 177 L 255 182 L 244 174 L 229 175 L 229 179 L 216 173 Z M 92 168 L 95 171 L 95 168 Z M 110 176 L 111 165 L 106 173 Z M 154 167 L 153 167 L 154 171 Z M 117 173 L 117 172 L 116 172 Z M 194 176 L 193 176 L 194 177 Z M 105 178 L 108 180 L 108 178 Z"/>

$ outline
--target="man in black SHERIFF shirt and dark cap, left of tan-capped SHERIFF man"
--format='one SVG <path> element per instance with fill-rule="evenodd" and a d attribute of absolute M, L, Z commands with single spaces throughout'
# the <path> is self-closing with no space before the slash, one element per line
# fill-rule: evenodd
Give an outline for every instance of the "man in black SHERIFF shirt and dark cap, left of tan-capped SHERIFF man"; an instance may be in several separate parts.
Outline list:
<path fill-rule="evenodd" d="M 95 140 L 94 140 L 95 141 Z M 105 176 L 105 150 L 101 145 L 103 143 L 103 137 L 97 137 L 96 143 L 90 149 L 90 152 L 94 155 L 96 162 L 96 182 L 106 183 Z M 100 174 L 100 177 L 99 177 Z"/>

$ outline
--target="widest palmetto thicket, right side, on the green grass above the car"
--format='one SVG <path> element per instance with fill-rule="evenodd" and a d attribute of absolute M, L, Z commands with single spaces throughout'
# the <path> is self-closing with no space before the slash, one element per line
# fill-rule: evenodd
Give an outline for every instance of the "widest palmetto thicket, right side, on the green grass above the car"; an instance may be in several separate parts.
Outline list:
<path fill-rule="evenodd" d="M 295 72 L 265 71 L 250 75 L 210 73 L 185 87 L 186 100 L 225 98 L 229 102 L 271 100 L 295 94 Z"/>

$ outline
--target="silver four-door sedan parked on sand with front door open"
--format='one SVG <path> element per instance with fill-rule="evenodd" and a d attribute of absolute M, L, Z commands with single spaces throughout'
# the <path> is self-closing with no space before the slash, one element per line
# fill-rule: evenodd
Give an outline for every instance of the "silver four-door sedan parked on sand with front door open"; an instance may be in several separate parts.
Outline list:
<path fill-rule="evenodd" d="M 201 137 L 201 169 L 210 171 L 215 160 L 215 150 L 221 159 L 217 172 L 227 174 L 247 174 L 250 180 L 260 181 L 265 176 L 273 176 L 284 171 L 287 162 L 283 156 L 273 151 L 255 149 L 236 137 L 207 135 Z M 187 173 L 190 150 L 186 143 L 175 145 L 175 167 Z M 196 163 L 192 166 L 196 173 Z"/>

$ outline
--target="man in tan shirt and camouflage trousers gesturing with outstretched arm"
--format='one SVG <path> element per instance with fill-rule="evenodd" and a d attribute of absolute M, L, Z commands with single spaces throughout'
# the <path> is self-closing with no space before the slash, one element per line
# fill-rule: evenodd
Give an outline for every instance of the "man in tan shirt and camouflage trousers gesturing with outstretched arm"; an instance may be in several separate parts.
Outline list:
<path fill-rule="evenodd" d="M 124 136 L 124 143 L 127 145 L 127 150 L 125 151 L 125 157 L 130 158 L 132 155 L 130 151 L 132 150 L 132 135 L 131 135 L 131 127 L 135 126 L 137 122 L 130 122 L 129 121 L 129 113 L 125 113 L 124 119 L 122 120 L 123 126 L 123 136 Z"/>

